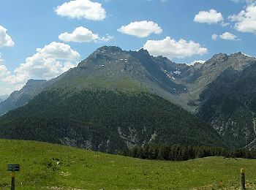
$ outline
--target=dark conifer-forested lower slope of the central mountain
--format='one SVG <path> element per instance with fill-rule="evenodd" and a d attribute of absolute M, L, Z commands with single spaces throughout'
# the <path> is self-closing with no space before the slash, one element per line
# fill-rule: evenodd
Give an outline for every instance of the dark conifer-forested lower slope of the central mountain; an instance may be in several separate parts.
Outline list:
<path fill-rule="evenodd" d="M 0 129 L 4 139 L 41 140 L 110 153 L 147 143 L 224 145 L 211 126 L 143 92 L 43 91 L 1 116 Z"/>

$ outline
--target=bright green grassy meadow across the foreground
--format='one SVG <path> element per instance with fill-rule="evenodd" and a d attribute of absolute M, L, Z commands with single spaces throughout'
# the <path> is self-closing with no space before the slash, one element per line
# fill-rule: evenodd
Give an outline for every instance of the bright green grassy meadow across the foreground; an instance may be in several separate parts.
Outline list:
<path fill-rule="evenodd" d="M 10 189 L 6 164 L 20 164 L 16 189 L 256 189 L 256 160 L 211 157 L 149 161 L 44 142 L 0 140 L 0 189 Z M 57 164 L 59 163 L 59 164 Z"/>

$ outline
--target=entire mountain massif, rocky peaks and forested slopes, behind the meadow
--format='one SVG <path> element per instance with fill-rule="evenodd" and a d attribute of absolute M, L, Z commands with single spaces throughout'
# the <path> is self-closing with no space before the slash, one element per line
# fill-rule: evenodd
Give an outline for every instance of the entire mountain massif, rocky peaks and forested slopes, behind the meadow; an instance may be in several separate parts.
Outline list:
<path fill-rule="evenodd" d="M 256 148 L 256 58 L 176 64 L 100 47 L 0 103 L 0 137 L 117 153 L 148 143 Z"/>

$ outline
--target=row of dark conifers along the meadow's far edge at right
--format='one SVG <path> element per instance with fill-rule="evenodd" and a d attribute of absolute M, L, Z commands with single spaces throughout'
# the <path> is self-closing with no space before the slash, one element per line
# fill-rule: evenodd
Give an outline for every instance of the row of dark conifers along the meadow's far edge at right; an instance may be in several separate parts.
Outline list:
<path fill-rule="evenodd" d="M 225 158 L 256 159 L 256 151 L 246 148 L 230 150 L 222 147 L 192 146 L 192 145 L 143 145 L 122 151 L 121 155 L 138 159 L 159 159 L 168 161 L 186 161 L 208 156 L 223 156 Z"/>

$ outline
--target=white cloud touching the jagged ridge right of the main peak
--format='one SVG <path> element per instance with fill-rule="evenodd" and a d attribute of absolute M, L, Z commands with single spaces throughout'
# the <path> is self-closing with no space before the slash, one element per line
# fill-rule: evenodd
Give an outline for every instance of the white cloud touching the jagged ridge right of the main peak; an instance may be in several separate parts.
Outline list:
<path fill-rule="evenodd" d="M 192 40 L 180 39 L 175 41 L 170 37 L 162 40 L 148 40 L 143 46 L 153 56 L 165 56 L 167 58 L 184 58 L 193 55 L 203 55 L 208 52 L 207 48 Z"/>

